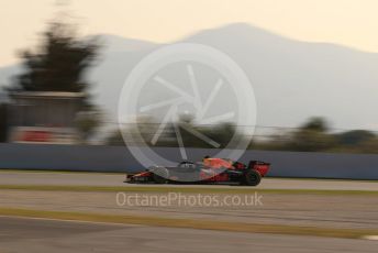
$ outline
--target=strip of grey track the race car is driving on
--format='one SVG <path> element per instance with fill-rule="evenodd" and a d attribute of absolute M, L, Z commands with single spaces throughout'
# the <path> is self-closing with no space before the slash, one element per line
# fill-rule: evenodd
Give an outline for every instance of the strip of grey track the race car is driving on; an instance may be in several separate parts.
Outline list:
<path fill-rule="evenodd" d="M 123 183 L 124 177 L 122 174 L 102 173 L 0 170 L 0 185 L 130 186 L 130 184 Z M 167 185 L 166 187 L 169 186 Z M 233 186 L 211 185 L 193 187 Z M 378 182 L 263 178 L 262 184 L 256 189 L 378 190 Z"/>

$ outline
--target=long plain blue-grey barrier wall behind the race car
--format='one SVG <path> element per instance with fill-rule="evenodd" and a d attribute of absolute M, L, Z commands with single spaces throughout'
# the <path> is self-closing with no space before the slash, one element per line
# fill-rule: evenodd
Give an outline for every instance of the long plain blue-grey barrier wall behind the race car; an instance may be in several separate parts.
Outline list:
<path fill-rule="evenodd" d="M 175 147 L 154 147 L 179 162 Z M 216 150 L 187 148 L 193 161 Z M 378 155 L 246 151 L 243 162 L 271 163 L 269 176 L 378 179 Z M 143 166 L 124 146 L 0 144 L 0 168 L 135 172 Z"/>

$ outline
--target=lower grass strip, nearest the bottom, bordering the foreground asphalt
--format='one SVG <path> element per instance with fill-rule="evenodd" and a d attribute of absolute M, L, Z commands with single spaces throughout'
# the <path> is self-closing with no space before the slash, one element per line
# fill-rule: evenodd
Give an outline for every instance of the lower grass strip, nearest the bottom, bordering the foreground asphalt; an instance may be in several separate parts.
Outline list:
<path fill-rule="evenodd" d="M 114 215 L 99 215 L 99 213 L 84 213 L 84 212 L 30 210 L 30 209 L 18 209 L 18 208 L 0 208 L 0 216 L 47 218 L 47 219 L 59 219 L 59 220 L 109 222 L 109 223 L 124 223 L 124 224 L 142 224 L 142 226 L 169 227 L 169 228 L 188 228 L 188 229 L 203 229 L 203 230 L 218 230 L 218 231 L 231 231 L 231 232 L 314 235 L 314 237 L 347 238 L 347 239 L 357 239 L 367 234 L 378 234 L 378 230 L 332 229 L 332 228 L 281 226 L 281 224 L 257 224 L 257 223 L 241 223 L 241 222 L 227 222 L 227 221 L 211 221 L 211 220 L 202 220 L 202 219 L 194 220 L 194 219 L 177 219 L 177 218 L 162 218 L 162 217 L 145 217 L 145 216 L 114 216 Z"/>

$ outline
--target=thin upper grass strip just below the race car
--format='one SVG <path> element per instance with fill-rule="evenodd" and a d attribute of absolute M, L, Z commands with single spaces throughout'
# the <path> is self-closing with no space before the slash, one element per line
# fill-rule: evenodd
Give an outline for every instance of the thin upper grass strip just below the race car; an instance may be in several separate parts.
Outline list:
<path fill-rule="evenodd" d="M 4 190 L 41 190 L 41 191 L 88 191 L 88 193 L 182 193 L 182 194 L 286 194 L 286 195 L 364 195 L 378 196 L 373 190 L 316 190 L 316 189 L 260 189 L 258 187 L 176 187 L 176 186 L 48 186 L 48 185 L 0 185 Z"/>

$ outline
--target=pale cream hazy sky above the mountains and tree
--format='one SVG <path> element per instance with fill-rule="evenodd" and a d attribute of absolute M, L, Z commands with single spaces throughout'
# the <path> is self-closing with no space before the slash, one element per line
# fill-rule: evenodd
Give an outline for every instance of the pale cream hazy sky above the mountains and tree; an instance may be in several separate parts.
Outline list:
<path fill-rule="evenodd" d="M 57 8 L 56 2 L 69 2 Z M 288 37 L 378 52 L 377 0 L 0 0 L 0 66 L 35 44 L 58 10 L 81 33 L 171 42 L 199 30 L 246 22 Z"/>

